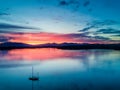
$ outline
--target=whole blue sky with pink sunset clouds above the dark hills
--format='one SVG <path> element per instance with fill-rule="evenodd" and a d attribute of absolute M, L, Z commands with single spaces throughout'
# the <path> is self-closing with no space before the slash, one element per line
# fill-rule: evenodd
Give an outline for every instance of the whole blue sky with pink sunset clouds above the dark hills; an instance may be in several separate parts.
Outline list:
<path fill-rule="evenodd" d="M 120 0 L 0 0 L 0 43 L 120 43 Z"/>

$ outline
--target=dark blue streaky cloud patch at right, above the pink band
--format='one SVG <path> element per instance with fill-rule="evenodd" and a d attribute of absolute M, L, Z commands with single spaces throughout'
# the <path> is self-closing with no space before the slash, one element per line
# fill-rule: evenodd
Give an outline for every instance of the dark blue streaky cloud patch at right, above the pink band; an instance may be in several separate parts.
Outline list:
<path fill-rule="evenodd" d="M 117 38 L 119 37 L 120 29 L 114 29 L 114 25 L 120 24 L 114 20 L 104 20 L 104 21 L 93 21 L 88 23 L 87 27 L 79 30 L 80 33 L 86 33 L 86 37 L 95 40 L 103 40 L 110 42 L 118 42 Z M 109 36 L 106 36 L 109 35 Z M 117 37 L 116 40 L 114 37 Z M 114 41 L 111 41 L 114 39 Z"/>

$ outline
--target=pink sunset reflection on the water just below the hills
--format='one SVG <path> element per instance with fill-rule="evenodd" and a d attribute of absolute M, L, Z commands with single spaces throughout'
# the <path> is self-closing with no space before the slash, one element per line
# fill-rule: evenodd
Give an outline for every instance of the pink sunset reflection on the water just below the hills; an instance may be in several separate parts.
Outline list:
<path fill-rule="evenodd" d="M 69 51 L 51 48 L 0 51 L 1 59 L 3 58 L 5 60 L 53 60 L 60 58 L 79 58 L 89 54 L 89 52 L 82 50 Z"/>

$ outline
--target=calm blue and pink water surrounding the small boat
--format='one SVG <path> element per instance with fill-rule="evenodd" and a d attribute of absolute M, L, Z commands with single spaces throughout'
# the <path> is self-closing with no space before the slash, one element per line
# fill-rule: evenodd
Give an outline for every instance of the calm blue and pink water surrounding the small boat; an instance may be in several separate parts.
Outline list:
<path fill-rule="evenodd" d="M 32 66 L 39 81 L 28 80 Z M 0 90 L 32 89 L 120 90 L 120 51 L 0 51 Z"/>

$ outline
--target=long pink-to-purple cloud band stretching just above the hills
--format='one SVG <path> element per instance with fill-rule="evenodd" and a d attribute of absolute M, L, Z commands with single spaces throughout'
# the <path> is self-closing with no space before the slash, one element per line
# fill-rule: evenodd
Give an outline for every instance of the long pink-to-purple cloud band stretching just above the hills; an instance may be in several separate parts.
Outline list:
<path fill-rule="evenodd" d="M 111 41 L 110 38 L 99 36 L 99 35 L 90 35 L 89 33 L 69 33 L 69 34 L 60 34 L 60 33 L 5 33 L 4 37 L 1 39 L 1 42 L 21 42 L 28 44 L 44 44 L 44 43 L 114 43 L 116 40 Z M 117 41 L 118 42 L 118 41 Z"/>

